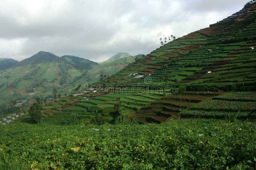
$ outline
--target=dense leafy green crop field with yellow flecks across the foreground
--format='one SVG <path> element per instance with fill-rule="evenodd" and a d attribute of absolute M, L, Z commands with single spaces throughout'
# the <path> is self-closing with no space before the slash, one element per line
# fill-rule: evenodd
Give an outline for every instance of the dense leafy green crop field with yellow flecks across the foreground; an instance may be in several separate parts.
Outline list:
<path fill-rule="evenodd" d="M 255 123 L 0 126 L 3 169 L 255 169 Z M 17 140 L 19 139 L 19 140 Z"/>

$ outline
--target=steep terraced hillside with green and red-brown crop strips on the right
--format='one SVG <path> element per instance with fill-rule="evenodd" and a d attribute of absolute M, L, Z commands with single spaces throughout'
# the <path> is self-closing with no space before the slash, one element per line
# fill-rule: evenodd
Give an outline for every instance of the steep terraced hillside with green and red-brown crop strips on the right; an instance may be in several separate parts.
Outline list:
<path fill-rule="evenodd" d="M 51 103 L 53 109 L 47 111 L 45 120 L 59 124 L 76 112 L 89 123 L 95 117 L 90 108 L 96 107 L 112 122 L 119 100 L 122 117 L 136 117 L 141 123 L 177 117 L 255 120 L 256 4 L 242 11 L 236 18 L 160 46 L 96 83 L 100 87 L 97 93 L 69 97 L 61 105 Z M 140 76 L 135 78 L 134 73 Z M 182 94 L 181 85 L 186 89 Z M 82 116 L 85 113 L 87 116 Z"/>

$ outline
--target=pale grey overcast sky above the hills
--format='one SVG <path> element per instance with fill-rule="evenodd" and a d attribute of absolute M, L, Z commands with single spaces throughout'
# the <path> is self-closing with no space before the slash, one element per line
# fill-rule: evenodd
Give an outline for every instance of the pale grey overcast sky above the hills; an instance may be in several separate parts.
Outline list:
<path fill-rule="evenodd" d="M 148 54 L 226 18 L 249 0 L 1 0 L 0 58 L 39 51 L 101 62 L 117 52 Z"/>

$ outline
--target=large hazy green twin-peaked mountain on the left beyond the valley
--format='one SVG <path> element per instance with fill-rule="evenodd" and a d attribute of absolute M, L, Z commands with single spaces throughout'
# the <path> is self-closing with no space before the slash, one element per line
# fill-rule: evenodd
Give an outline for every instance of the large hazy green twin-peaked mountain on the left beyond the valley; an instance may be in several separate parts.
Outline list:
<path fill-rule="evenodd" d="M 58 57 L 40 51 L 0 73 L 0 101 L 25 99 L 36 93 L 51 95 L 54 86 L 59 93 L 70 93 L 85 81 L 87 71 L 97 65 L 84 58 Z"/>

